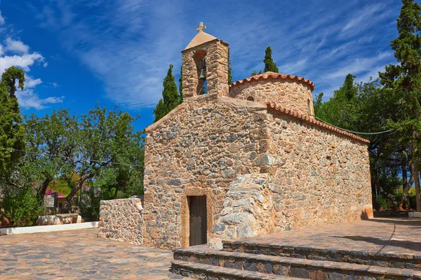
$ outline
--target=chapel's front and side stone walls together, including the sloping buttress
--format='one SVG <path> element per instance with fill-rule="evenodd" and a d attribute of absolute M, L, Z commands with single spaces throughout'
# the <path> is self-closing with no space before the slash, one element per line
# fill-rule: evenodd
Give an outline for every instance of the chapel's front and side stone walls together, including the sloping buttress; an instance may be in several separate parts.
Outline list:
<path fill-rule="evenodd" d="M 189 246 L 189 195 L 206 195 L 216 245 L 352 221 L 371 203 L 363 139 L 259 102 L 187 99 L 146 132 L 146 246 Z"/>

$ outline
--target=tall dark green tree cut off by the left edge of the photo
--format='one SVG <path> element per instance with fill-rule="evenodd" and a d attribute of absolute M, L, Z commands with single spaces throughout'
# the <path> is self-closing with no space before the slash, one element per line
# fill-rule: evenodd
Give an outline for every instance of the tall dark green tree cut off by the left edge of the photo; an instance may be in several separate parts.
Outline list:
<path fill-rule="evenodd" d="M 25 130 L 18 99 L 15 97 L 16 80 L 23 90 L 25 74 L 12 66 L 4 71 L 0 82 L 0 178 L 17 164 L 25 149 Z M 16 151 L 20 150 L 20 151 Z"/>

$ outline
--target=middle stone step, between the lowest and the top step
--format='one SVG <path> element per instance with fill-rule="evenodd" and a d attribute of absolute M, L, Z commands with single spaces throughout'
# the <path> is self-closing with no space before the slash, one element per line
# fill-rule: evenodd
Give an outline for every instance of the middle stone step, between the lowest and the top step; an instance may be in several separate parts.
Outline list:
<path fill-rule="evenodd" d="M 421 279 L 421 272 L 413 269 L 227 252 L 205 246 L 179 248 L 173 252 L 175 260 L 302 279 Z"/>

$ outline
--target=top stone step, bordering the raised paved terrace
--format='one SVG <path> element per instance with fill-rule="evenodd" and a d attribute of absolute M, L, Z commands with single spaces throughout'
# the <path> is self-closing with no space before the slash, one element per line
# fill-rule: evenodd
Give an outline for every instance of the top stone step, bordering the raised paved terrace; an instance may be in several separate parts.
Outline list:
<path fill-rule="evenodd" d="M 222 241 L 223 251 L 262 255 L 277 255 L 308 260 L 349 262 L 360 265 L 395 267 L 421 270 L 421 254 L 389 251 L 343 250 L 317 246 L 288 246 L 271 243 L 248 243 L 247 241 Z"/>

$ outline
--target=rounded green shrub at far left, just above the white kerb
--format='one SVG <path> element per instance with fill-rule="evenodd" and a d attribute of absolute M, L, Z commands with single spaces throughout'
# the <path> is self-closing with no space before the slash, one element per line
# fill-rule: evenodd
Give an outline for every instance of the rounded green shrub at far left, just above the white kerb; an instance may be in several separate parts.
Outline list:
<path fill-rule="evenodd" d="M 4 217 L 18 227 L 34 225 L 44 212 L 44 206 L 32 190 L 7 190 L 2 204 Z"/>

